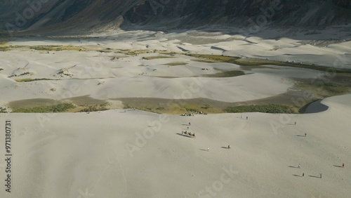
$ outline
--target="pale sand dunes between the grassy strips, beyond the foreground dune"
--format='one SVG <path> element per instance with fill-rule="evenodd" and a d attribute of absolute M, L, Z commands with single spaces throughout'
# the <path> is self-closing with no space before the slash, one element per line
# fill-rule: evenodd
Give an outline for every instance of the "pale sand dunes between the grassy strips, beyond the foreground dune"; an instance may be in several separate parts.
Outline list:
<path fill-rule="evenodd" d="M 111 60 L 113 55 L 115 54 L 94 51 L 40 53 L 23 50 L 1 53 L 0 57 L 4 58 L 4 71 L 0 76 L 0 88 L 4 93 L 1 95 L 1 101 L 9 103 L 13 100 L 33 98 L 60 100 L 91 95 L 103 100 L 126 97 L 178 97 L 239 102 L 285 93 L 293 86 L 289 79 L 279 75 L 272 77 L 269 74 L 231 78 L 194 77 L 199 74 L 215 74 L 220 72 L 218 70 L 237 70 L 239 66 L 229 63 L 194 62 L 194 58 L 185 55 L 176 58 L 143 59 L 143 56 L 159 55 L 153 53 Z M 186 65 L 164 65 L 172 62 L 185 62 Z M 58 74 L 62 70 L 64 74 Z M 30 74 L 25 74 L 26 72 Z M 9 78 L 15 74 L 25 75 Z M 26 78 L 59 80 L 27 83 L 13 81 Z M 55 91 L 51 91 L 51 88 Z"/>

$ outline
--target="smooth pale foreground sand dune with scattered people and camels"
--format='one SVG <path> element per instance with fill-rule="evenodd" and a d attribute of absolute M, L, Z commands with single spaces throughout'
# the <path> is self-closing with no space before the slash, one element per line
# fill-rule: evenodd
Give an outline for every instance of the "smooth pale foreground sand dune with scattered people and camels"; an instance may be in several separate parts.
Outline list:
<path fill-rule="evenodd" d="M 350 101 L 299 115 L 1 114 L 13 122 L 10 197 L 349 197 Z"/>

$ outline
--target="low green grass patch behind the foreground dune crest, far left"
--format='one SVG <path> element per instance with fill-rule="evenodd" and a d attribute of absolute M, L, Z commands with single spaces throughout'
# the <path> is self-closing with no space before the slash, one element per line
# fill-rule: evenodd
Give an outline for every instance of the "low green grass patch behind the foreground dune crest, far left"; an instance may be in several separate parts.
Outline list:
<path fill-rule="evenodd" d="M 58 105 L 41 106 L 41 107 L 27 107 L 16 108 L 13 110 L 15 113 L 50 113 L 50 112 L 65 112 L 73 109 L 75 106 L 72 103 L 61 103 Z"/>

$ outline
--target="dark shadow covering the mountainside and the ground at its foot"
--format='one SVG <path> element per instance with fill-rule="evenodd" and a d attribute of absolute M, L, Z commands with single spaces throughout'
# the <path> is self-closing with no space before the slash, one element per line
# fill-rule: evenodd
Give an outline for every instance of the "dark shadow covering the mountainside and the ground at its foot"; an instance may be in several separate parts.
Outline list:
<path fill-rule="evenodd" d="M 108 27 L 125 31 L 164 31 L 166 34 L 197 30 L 262 39 L 298 37 L 310 40 L 330 25 L 338 27 L 334 26 L 326 39 L 330 39 L 333 31 L 343 28 L 340 26 L 351 25 L 348 24 L 351 23 L 350 1 L 322 0 L 310 6 L 311 2 L 316 3 L 316 0 L 300 1 L 300 4 L 296 4 L 296 0 L 282 0 L 279 4 L 270 0 L 60 0 L 54 4 L 41 3 L 37 6 L 39 11 L 33 11 L 34 14 L 26 19 L 23 18 L 24 11 L 32 9 L 27 1 L 1 1 L 0 30 L 8 30 L 6 24 L 9 23 L 15 31 L 27 31 L 14 33 L 18 36 L 81 35 L 81 32 L 101 32 Z M 334 6 L 338 9 L 330 9 Z M 305 13 L 312 10 L 314 15 L 308 15 L 306 19 Z M 16 25 L 17 17 L 22 20 L 20 25 Z M 294 34 L 306 30 L 300 36 Z M 312 36 L 305 38 L 308 35 Z"/>

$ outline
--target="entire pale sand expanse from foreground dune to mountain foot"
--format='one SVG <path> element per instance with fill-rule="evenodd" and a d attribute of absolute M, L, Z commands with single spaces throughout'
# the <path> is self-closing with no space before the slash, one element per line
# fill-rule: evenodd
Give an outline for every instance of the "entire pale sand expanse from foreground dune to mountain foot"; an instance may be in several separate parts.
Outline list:
<path fill-rule="evenodd" d="M 321 103 L 329 108 L 317 104 L 309 114 L 187 117 L 123 109 L 118 100 L 236 103 L 303 93 L 297 79 L 333 81 L 333 68 L 351 69 L 350 34 L 332 29 L 293 37 L 286 37 L 289 29 L 257 34 L 121 30 L 8 41 L 3 45 L 10 49 L 0 52 L 1 108 L 11 112 L 9 104 L 17 100 L 85 100 L 86 95 L 113 107 L 0 113 L 1 128 L 12 123 L 13 154 L 11 194 L 3 185 L 8 163 L 6 158 L 0 162 L 0 197 L 350 197 L 351 94 L 325 98 Z M 248 68 L 187 53 L 267 64 Z M 272 65 L 270 60 L 331 70 Z M 225 71 L 244 74 L 213 76 Z M 348 88 L 343 93 L 350 93 L 349 77 L 343 76 Z M 303 96 L 310 101 L 310 95 Z M 5 133 L 0 140 L 4 153 Z"/>

